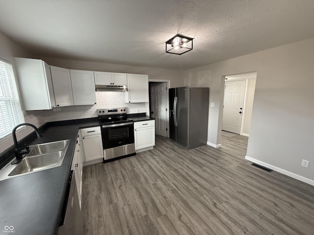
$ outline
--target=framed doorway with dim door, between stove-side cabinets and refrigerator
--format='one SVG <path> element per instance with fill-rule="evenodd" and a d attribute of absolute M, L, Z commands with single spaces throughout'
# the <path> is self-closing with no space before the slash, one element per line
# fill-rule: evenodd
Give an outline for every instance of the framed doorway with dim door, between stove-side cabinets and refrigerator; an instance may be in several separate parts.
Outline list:
<path fill-rule="evenodd" d="M 169 137 L 169 81 L 149 81 L 149 111 L 155 118 L 155 134 Z"/>

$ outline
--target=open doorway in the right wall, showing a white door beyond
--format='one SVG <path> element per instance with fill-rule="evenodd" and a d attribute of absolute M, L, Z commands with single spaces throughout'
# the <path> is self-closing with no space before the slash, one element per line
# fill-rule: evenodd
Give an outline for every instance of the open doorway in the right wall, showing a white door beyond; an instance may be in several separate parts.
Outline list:
<path fill-rule="evenodd" d="M 249 137 L 256 78 L 257 72 L 224 76 L 222 133 Z"/>

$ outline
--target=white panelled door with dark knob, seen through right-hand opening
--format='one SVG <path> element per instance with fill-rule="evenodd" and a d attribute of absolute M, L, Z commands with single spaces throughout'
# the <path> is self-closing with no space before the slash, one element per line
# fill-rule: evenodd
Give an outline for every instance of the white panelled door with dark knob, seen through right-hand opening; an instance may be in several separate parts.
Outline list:
<path fill-rule="evenodd" d="M 222 130 L 240 134 L 245 93 L 245 80 L 226 81 Z"/>

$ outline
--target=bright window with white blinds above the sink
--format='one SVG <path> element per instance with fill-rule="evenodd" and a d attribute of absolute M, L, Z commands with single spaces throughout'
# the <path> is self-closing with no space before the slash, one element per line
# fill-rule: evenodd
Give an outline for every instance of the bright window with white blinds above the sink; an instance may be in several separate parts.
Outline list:
<path fill-rule="evenodd" d="M 24 123 L 12 65 L 0 60 L 0 138 Z"/>

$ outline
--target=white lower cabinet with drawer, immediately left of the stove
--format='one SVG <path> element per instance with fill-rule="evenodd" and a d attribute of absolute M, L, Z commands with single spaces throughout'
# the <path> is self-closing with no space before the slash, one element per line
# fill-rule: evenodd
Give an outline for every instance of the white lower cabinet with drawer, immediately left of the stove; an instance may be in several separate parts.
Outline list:
<path fill-rule="evenodd" d="M 100 126 L 81 129 L 85 162 L 104 158 Z"/>

